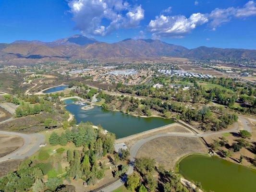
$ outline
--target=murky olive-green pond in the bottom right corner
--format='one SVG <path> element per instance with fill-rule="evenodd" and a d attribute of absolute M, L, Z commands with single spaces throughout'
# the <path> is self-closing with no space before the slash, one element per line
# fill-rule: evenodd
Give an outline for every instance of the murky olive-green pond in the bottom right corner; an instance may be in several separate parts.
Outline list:
<path fill-rule="evenodd" d="M 187 180 L 200 181 L 206 192 L 256 192 L 255 169 L 217 156 L 187 156 L 179 163 L 179 171 Z"/>

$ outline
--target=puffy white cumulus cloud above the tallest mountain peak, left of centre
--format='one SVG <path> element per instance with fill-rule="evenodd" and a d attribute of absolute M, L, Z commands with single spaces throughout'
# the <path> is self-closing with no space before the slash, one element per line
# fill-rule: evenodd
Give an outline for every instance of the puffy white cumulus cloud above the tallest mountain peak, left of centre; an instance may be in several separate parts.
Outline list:
<path fill-rule="evenodd" d="M 105 36 L 119 28 L 131 28 L 144 19 L 141 5 L 131 7 L 123 0 L 70 0 L 75 28 L 84 35 Z"/>

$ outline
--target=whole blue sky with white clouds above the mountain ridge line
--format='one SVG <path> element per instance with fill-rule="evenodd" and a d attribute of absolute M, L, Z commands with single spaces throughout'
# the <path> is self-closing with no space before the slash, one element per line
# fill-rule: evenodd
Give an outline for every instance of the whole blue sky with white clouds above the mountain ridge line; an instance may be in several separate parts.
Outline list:
<path fill-rule="evenodd" d="M 256 0 L 0 0 L 0 42 L 75 34 L 256 49 Z"/>

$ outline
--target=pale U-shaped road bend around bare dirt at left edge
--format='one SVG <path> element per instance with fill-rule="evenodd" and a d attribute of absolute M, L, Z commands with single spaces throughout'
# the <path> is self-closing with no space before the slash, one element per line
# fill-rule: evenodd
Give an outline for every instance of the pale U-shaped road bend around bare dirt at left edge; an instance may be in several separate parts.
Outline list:
<path fill-rule="evenodd" d="M 0 131 L 0 134 L 5 135 L 16 135 L 24 139 L 24 145 L 18 150 L 3 156 L 0 158 L 0 162 L 12 159 L 24 159 L 26 157 L 32 156 L 40 148 L 40 144 L 45 142 L 45 136 L 39 133 L 33 134 L 23 134 L 18 132 L 4 132 Z"/>

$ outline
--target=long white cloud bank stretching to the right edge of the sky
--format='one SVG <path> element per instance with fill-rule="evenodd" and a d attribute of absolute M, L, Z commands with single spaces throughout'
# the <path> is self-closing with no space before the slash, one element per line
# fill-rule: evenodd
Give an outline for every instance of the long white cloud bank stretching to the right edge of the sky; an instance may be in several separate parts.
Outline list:
<path fill-rule="evenodd" d="M 195 1 L 195 5 L 198 1 Z M 166 10 L 168 10 L 167 8 Z M 171 10 L 171 8 L 170 8 Z M 190 33 L 197 26 L 208 24 L 211 30 L 216 30 L 222 24 L 230 22 L 233 18 L 246 18 L 256 15 L 256 2 L 248 1 L 242 8 L 229 7 L 227 9 L 216 8 L 210 13 L 194 13 L 189 18 L 184 15 L 165 15 L 162 11 L 159 16 L 151 20 L 148 30 L 152 38 L 159 39 L 161 36 L 183 37 Z"/>

